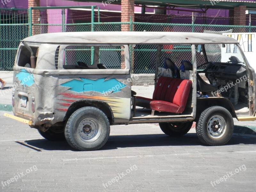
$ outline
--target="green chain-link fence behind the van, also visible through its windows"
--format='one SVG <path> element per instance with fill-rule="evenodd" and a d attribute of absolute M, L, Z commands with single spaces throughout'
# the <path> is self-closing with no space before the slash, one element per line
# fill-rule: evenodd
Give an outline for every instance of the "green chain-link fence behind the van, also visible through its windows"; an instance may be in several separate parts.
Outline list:
<path fill-rule="evenodd" d="M 204 25 L 204 24 L 177 24 L 177 23 L 144 23 L 144 22 L 80 22 L 70 23 L 65 18 L 65 8 L 60 9 L 59 14 L 40 10 L 41 20 L 39 23 L 29 23 L 28 10 L 0 9 L 0 70 L 12 70 L 17 47 L 20 40 L 31 35 L 32 29 L 37 29 L 40 34 L 55 32 L 79 32 L 79 31 L 173 31 L 173 32 L 198 32 L 198 33 L 222 33 L 222 32 L 256 32 L 256 26 L 230 26 L 230 25 Z M 53 15 L 54 14 L 54 15 Z M 52 18 L 51 20 L 49 19 Z M 77 16 L 78 17 L 78 16 Z M 91 18 L 91 15 L 79 16 L 79 18 Z M 73 21 L 73 20 L 72 20 Z M 191 47 L 189 45 L 163 45 L 161 64 L 164 58 L 170 58 L 178 67 L 180 58 L 191 60 Z M 68 50 L 71 56 L 74 53 Z M 117 68 L 122 65 L 121 47 L 100 47 L 100 62 L 108 65 L 108 68 Z M 86 53 L 86 54 L 84 54 Z M 73 54 L 73 56 L 72 56 Z M 104 57 L 103 57 L 104 56 Z M 115 56 L 115 58 L 114 58 Z M 130 45 L 132 73 L 154 73 L 156 61 L 156 45 Z M 112 58 L 113 57 L 113 58 Z M 75 55 L 78 60 L 93 61 L 93 47 L 81 48 Z M 67 58 L 68 59 L 68 58 Z M 104 62 L 103 62 L 104 61 Z M 66 62 L 69 62 L 68 60 Z M 111 64 L 112 62 L 112 64 Z M 66 63 L 67 64 L 67 63 Z M 67 64 L 68 65 L 68 64 Z"/>

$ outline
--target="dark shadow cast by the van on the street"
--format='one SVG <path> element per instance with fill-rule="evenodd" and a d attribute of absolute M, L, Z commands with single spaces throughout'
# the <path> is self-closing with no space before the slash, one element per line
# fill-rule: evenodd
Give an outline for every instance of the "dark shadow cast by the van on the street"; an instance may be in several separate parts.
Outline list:
<path fill-rule="evenodd" d="M 227 145 L 256 144 L 255 138 L 233 135 Z M 42 150 L 72 150 L 66 141 L 49 141 L 46 139 L 27 140 L 25 144 Z M 112 150 L 117 148 L 132 147 L 157 147 L 157 146 L 204 146 L 197 138 L 196 133 L 187 133 L 181 137 L 169 137 L 165 134 L 146 135 L 112 135 L 108 142 L 99 150 Z M 209 146 L 211 147 L 211 146 Z M 31 147 L 30 147 L 31 148 Z"/>

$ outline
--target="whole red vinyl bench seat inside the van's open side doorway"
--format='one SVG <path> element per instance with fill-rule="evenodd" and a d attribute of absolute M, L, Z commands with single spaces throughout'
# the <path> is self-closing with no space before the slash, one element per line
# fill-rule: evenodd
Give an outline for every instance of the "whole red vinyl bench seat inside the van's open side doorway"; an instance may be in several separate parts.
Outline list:
<path fill-rule="evenodd" d="M 137 97 L 140 100 L 138 106 L 141 106 L 140 103 L 148 106 L 150 102 L 149 107 L 153 110 L 182 113 L 186 107 L 191 86 L 192 81 L 187 79 L 160 77 L 153 93 L 153 99 Z"/>

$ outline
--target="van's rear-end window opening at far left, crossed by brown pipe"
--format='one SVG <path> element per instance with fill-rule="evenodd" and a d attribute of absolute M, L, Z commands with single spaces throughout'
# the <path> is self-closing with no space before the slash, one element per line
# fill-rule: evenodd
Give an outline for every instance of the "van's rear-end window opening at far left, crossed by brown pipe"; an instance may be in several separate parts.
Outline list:
<path fill-rule="evenodd" d="M 37 54 L 38 54 L 38 50 L 39 50 L 38 47 L 31 46 L 31 49 L 34 52 L 34 55 L 37 59 Z M 20 50 L 18 66 L 31 68 L 30 56 L 31 56 L 31 53 L 28 51 L 28 49 L 25 46 L 22 46 L 21 50 Z"/>

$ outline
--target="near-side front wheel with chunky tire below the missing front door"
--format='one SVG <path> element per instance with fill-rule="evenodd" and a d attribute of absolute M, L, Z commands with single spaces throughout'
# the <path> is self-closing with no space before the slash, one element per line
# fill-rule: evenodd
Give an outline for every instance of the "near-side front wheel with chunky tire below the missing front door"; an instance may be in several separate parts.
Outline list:
<path fill-rule="evenodd" d="M 205 109 L 196 126 L 199 140 L 211 146 L 226 144 L 231 139 L 233 131 L 232 115 L 226 108 L 220 106 Z"/>

